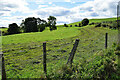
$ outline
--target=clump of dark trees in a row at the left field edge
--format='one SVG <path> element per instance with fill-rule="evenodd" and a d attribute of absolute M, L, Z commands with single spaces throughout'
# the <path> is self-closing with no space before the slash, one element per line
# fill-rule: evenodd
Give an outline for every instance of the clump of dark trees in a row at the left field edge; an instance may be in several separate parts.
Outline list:
<path fill-rule="evenodd" d="M 8 34 L 17 34 L 21 30 L 25 33 L 27 32 L 42 32 L 45 30 L 45 27 L 49 27 L 50 30 L 56 30 L 56 18 L 54 16 L 49 16 L 48 22 L 35 17 L 28 17 L 25 20 L 22 20 L 22 23 L 18 27 L 16 23 L 9 24 Z"/>

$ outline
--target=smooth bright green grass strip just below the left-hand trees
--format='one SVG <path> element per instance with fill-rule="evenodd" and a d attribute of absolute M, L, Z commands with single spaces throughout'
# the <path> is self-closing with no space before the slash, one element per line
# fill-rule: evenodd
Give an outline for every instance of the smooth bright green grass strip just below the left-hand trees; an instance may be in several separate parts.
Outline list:
<path fill-rule="evenodd" d="M 58 30 L 53 30 L 53 31 L 45 30 L 44 32 L 22 33 L 22 34 L 3 36 L 2 44 L 48 41 L 48 40 L 69 38 L 76 35 L 78 35 L 77 28 L 58 27 Z"/>

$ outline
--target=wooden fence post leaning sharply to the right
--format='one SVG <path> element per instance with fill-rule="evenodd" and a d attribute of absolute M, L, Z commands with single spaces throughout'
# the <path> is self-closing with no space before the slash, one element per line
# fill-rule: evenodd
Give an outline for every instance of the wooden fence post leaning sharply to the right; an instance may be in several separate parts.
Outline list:
<path fill-rule="evenodd" d="M 73 49 L 72 49 L 72 51 L 70 53 L 70 56 L 68 58 L 68 61 L 67 61 L 67 64 L 70 63 L 71 66 L 72 66 L 72 62 L 73 62 L 73 58 L 74 58 L 75 52 L 77 50 L 78 43 L 79 43 L 79 39 L 76 39 L 76 41 L 74 43 L 74 46 L 73 46 Z"/>

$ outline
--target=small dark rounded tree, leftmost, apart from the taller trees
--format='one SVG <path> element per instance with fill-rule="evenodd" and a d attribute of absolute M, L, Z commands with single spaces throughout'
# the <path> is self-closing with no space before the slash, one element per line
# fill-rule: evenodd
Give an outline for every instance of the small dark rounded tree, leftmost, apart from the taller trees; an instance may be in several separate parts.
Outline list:
<path fill-rule="evenodd" d="M 17 34 L 20 33 L 20 28 L 16 23 L 9 24 L 8 34 Z"/>

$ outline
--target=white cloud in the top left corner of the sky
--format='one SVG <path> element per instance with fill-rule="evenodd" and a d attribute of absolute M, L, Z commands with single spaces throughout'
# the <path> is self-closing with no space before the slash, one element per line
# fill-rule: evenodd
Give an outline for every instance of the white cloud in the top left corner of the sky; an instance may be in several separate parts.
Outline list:
<path fill-rule="evenodd" d="M 16 11 L 26 13 L 29 11 L 27 5 L 25 0 L 0 0 L 0 12 L 3 12 L 5 15 L 10 15 L 10 13 Z"/>

